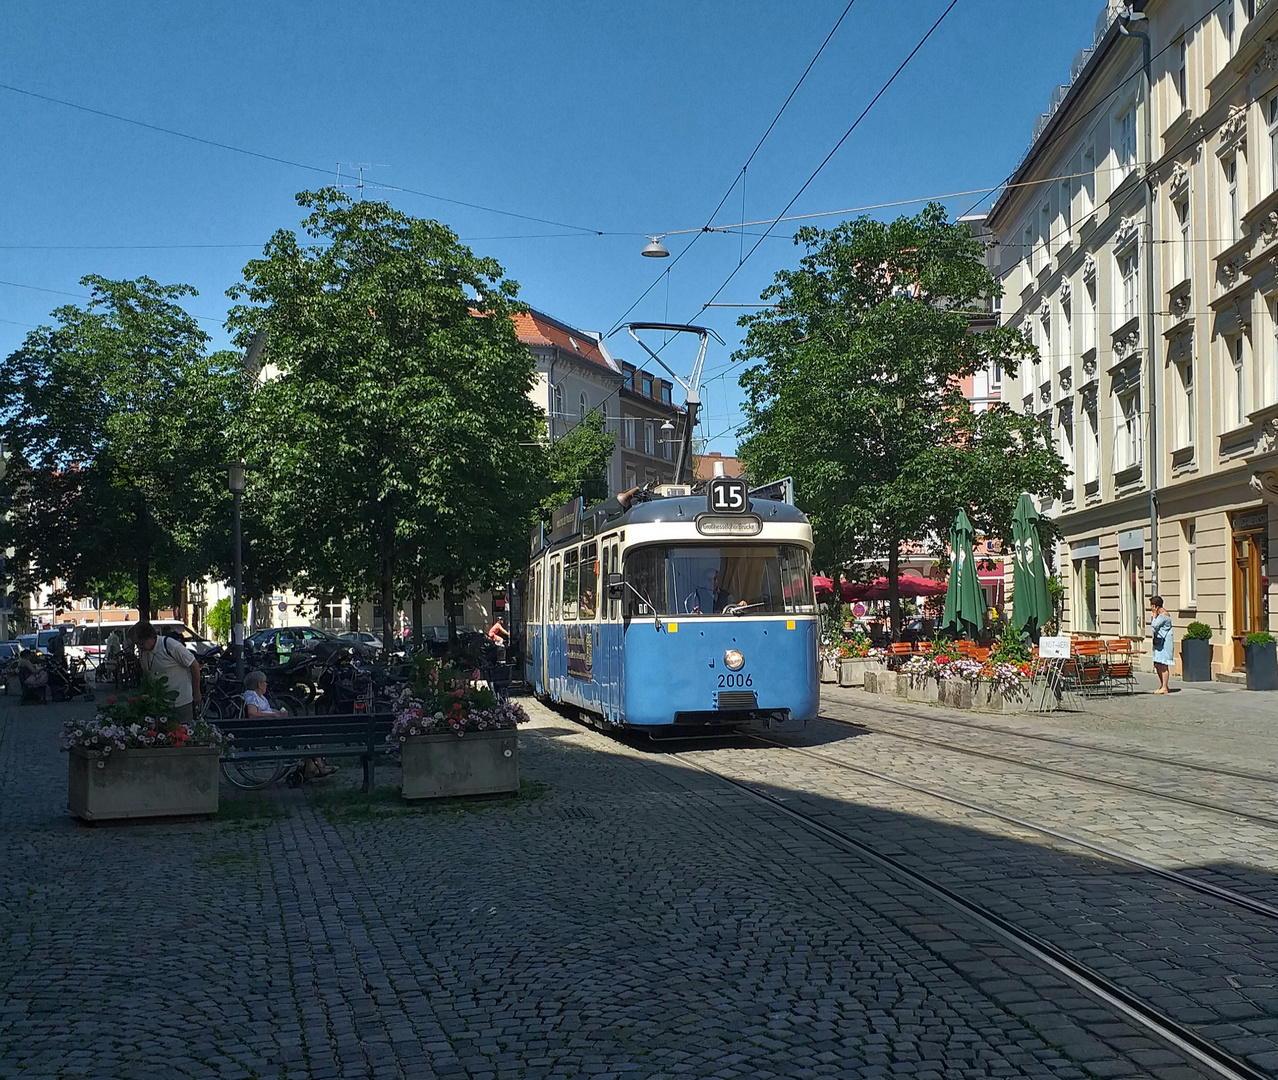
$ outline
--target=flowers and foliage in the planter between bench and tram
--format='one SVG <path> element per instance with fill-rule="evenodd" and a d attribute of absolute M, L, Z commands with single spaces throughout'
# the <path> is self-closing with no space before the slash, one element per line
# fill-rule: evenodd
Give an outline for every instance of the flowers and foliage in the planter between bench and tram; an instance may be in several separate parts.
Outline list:
<path fill-rule="evenodd" d="M 514 702 L 498 702 L 481 684 L 479 672 L 469 675 L 443 667 L 432 657 L 413 658 L 409 686 L 394 704 L 395 720 L 387 743 L 403 743 L 412 735 L 441 735 L 451 731 L 495 731 L 524 723 L 528 713 Z"/>

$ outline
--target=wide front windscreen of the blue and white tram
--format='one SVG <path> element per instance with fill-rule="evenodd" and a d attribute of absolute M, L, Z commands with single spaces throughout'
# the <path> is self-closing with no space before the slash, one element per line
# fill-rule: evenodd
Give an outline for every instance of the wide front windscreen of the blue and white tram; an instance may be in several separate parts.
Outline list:
<path fill-rule="evenodd" d="M 797 544 L 643 547 L 629 552 L 625 574 L 634 585 L 626 601 L 633 616 L 817 610 L 808 552 Z"/>

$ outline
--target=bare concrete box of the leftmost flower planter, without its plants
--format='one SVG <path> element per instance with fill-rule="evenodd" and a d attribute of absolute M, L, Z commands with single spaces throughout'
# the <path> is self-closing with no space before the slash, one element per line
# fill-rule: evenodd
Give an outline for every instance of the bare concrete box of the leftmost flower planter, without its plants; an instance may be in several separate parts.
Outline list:
<path fill-rule="evenodd" d="M 66 806 L 87 822 L 217 813 L 217 746 L 147 746 L 101 755 L 73 746 Z"/>

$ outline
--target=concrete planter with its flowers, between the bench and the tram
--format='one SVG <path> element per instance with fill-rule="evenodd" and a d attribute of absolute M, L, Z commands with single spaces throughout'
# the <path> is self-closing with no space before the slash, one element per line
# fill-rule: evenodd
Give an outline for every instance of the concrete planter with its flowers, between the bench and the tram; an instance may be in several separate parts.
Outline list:
<path fill-rule="evenodd" d="M 519 791 L 515 726 L 527 720 L 521 706 L 498 703 L 481 686 L 479 672 L 466 675 L 418 654 L 386 736 L 400 750 L 404 798 Z"/>

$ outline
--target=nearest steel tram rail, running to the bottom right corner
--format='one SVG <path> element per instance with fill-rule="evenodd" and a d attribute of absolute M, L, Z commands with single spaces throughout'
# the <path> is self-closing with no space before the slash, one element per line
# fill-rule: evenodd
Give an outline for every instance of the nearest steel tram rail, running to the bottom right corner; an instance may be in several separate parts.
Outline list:
<path fill-rule="evenodd" d="M 773 745 L 782 749 L 800 749 L 786 746 L 780 743 L 773 744 L 769 740 L 760 739 L 759 741 L 763 741 L 766 745 Z M 897 881 L 905 882 L 924 895 L 944 904 L 952 910 L 960 911 L 984 930 L 1015 948 L 1022 956 L 1034 960 L 1043 968 L 1067 980 L 1074 987 L 1084 991 L 1094 999 L 1104 1003 L 1125 1020 L 1149 1033 L 1163 1044 L 1173 1048 L 1186 1060 L 1205 1068 L 1210 1075 L 1223 1077 L 1224 1080 L 1260 1080 L 1261 1077 L 1269 1077 L 1269 1074 L 1255 1068 L 1246 1061 L 1242 1061 L 1229 1053 L 1223 1047 L 1201 1035 L 1194 1028 L 1181 1024 L 1168 1016 L 1166 1012 L 1144 1001 L 1137 994 L 1131 993 L 1114 983 L 1112 979 L 1076 960 L 1067 951 L 1052 945 L 1038 934 L 1017 927 L 1010 919 L 962 896 L 955 890 L 933 881 L 927 874 L 919 873 L 900 859 L 886 855 L 863 840 L 849 836 L 842 829 L 818 821 L 815 817 L 789 805 L 759 785 L 739 780 L 722 773 L 718 769 L 711 768 L 695 757 L 690 757 L 688 752 L 671 753 L 670 757 L 690 768 L 708 776 L 713 776 L 723 783 L 748 794 L 777 813 L 797 822 L 809 832 L 824 838 L 832 846 L 864 859 L 865 861 L 886 870 Z M 813 757 L 826 759 L 824 755 L 820 754 L 813 754 Z M 1029 827 L 1035 828 L 1034 826 Z M 1278 916 L 1278 910 L 1274 911 L 1274 915 Z"/>

